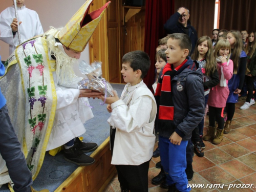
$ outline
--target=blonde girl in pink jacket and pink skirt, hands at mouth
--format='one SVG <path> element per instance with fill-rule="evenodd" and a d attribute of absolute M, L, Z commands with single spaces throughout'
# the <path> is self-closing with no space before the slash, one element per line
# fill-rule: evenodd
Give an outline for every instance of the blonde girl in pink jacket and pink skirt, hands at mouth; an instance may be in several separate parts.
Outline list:
<path fill-rule="evenodd" d="M 227 86 L 228 80 L 233 75 L 233 61 L 229 59 L 231 48 L 229 41 L 221 39 L 217 42 L 214 56 L 217 60 L 217 69 L 219 72 L 220 83 L 212 88 L 209 93 L 209 126 L 207 135 L 214 138 L 212 143 L 220 144 L 223 140 L 224 116 L 223 111 L 229 94 Z M 217 134 L 215 134 L 215 121 L 218 122 Z"/>

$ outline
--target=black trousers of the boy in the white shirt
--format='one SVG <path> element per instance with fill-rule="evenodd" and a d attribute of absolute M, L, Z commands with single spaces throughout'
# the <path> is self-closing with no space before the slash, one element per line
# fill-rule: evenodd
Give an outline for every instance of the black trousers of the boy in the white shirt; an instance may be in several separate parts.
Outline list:
<path fill-rule="evenodd" d="M 110 146 L 113 154 L 116 129 L 111 129 Z M 150 160 L 140 165 L 116 165 L 121 192 L 147 192 Z"/>

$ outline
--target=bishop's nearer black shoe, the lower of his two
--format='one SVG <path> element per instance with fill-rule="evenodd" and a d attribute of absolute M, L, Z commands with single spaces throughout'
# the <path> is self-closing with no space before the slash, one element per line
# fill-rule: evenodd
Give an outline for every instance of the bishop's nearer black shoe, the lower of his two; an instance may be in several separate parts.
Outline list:
<path fill-rule="evenodd" d="M 65 149 L 64 153 L 64 159 L 66 161 L 77 165 L 91 165 L 95 162 L 95 159 L 82 153 L 82 151 L 78 150 L 75 146 L 72 146 L 68 150 Z"/>

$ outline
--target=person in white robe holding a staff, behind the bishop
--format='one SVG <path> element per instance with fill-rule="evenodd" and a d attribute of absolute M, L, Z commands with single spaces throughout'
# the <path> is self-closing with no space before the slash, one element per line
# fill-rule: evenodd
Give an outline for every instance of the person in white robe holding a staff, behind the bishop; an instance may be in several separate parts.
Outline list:
<path fill-rule="evenodd" d="M 16 0 L 19 20 L 20 40 L 25 40 L 44 33 L 38 14 L 26 8 L 25 0 Z M 0 39 L 9 44 L 9 54 L 19 45 L 17 34 L 18 21 L 14 5 L 8 7 L 0 14 Z"/>

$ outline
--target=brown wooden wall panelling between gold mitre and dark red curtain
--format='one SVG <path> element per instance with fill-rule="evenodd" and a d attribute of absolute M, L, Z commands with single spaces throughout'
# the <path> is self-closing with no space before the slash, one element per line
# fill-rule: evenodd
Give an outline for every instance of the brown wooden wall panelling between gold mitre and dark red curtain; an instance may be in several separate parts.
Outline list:
<path fill-rule="evenodd" d="M 108 0 L 95 1 L 90 11 L 103 6 Z M 126 12 L 127 9 L 125 8 Z M 103 77 L 114 83 L 125 83 L 121 78 L 122 56 L 135 50 L 144 50 L 145 37 L 145 10 L 132 16 L 123 25 L 123 7 L 119 0 L 112 0 L 104 14 L 103 21 L 92 35 L 89 41 L 90 61 L 102 61 Z M 126 33 L 125 34 L 125 29 Z"/>

